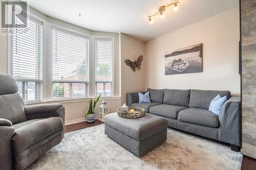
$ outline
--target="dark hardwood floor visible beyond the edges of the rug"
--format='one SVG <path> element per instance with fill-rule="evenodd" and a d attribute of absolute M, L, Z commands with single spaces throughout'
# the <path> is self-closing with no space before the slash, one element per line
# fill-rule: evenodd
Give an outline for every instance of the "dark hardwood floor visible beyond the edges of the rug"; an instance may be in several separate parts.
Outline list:
<path fill-rule="evenodd" d="M 66 125 L 65 133 L 83 129 L 83 128 L 89 128 L 89 127 L 93 127 L 93 126 L 101 125 L 101 124 L 103 124 L 103 123 L 100 122 L 99 120 L 95 120 L 94 123 L 90 123 L 90 124 L 88 124 L 87 122 L 79 122 L 76 124 Z M 256 170 L 256 159 L 253 159 L 253 158 L 250 158 L 247 156 L 243 156 L 241 170 Z"/>

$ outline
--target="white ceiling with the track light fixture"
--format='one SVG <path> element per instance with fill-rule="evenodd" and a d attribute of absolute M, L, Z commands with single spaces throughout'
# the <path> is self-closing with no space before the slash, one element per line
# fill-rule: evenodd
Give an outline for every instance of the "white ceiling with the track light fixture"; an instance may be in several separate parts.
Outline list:
<path fill-rule="evenodd" d="M 172 0 L 170 0 L 172 1 Z M 154 39 L 210 16 L 239 6 L 238 0 L 180 0 L 179 10 L 154 13 L 169 0 L 30 0 L 36 10 L 74 25 L 103 32 L 125 33 L 142 41 Z M 79 13 L 81 16 L 79 16 Z"/>

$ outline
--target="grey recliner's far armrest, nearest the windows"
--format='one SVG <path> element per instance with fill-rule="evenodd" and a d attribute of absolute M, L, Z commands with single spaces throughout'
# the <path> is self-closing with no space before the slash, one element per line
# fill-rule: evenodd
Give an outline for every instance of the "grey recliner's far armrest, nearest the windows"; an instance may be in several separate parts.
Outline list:
<path fill-rule="evenodd" d="M 61 117 L 63 123 L 65 123 L 65 107 L 61 104 L 27 106 L 24 110 L 29 120 L 35 118 Z"/>

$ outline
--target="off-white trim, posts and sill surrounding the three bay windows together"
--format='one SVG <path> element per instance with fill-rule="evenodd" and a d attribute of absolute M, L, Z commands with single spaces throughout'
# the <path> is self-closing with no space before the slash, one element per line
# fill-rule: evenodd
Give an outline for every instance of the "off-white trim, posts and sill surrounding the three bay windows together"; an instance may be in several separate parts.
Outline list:
<path fill-rule="evenodd" d="M 90 98 L 96 98 L 96 56 L 95 56 L 95 38 L 106 38 L 106 39 L 113 39 L 113 57 L 112 57 L 112 88 L 111 96 L 102 96 L 101 99 L 120 99 L 120 96 L 116 96 L 115 92 L 118 94 L 120 93 L 120 87 L 117 86 L 118 89 L 115 88 L 115 84 L 120 84 L 116 82 L 115 76 L 119 77 L 119 72 L 115 72 L 115 60 L 116 56 L 119 54 L 119 47 L 116 46 L 116 42 L 119 43 L 119 36 L 117 33 L 104 33 L 104 32 L 93 32 L 87 29 L 80 29 L 79 27 L 75 28 L 72 25 L 63 25 L 62 23 L 52 22 L 47 17 L 39 17 L 33 13 L 28 11 L 28 17 L 32 17 L 33 19 L 42 22 L 42 80 L 41 83 L 41 100 L 40 101 L 33 101 L 33 102 L 25 102 L 26 105 L 30 104 L 39 104 L 39 103 L 66 103 L 66 102 L 80 102 L 80 101 L 88 101 Z M 83 98 L 62 98 L 62 99 L 53 99 L 52 98 L 52 29 L 55 28 L 56 30 L 59 29 L 61 31 L 66 31 L 68 33 L 73 33 L 75 35 L 85 36 L 89 38 L 89 56 L 88 56 L 88 82 L 87 82 L 87 94 L 88 96 Z M 8 73 L 12 75 L 12 35 L 8 36 Z M 116 51 L 118 50 L 118 52 Z M 119 61 L 120 59 L 117 59 Z M 120 66 L 120 63 L 118 63 Z M 26 81 L 31 81 L 26 80 Z M 60 81 L 59 81 L 60 82 Z M 76 83 L 76 82 L 74 82 Z"/>

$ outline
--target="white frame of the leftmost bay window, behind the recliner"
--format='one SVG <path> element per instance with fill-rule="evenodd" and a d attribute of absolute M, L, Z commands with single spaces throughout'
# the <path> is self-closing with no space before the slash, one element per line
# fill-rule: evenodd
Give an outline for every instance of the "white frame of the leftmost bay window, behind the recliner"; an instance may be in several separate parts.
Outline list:
<path fill-rule="evenodd" d="M 42 69 L 38 69 L 38 79 L 29 79 L 29 78 L 14 78 L 15 81 L 17 82 L 23 82 L 25 84 L 25 90 L 26 89 L 26 86 L 28 85 L 29 82 L 34 82 L 35 84 L 37 84 L 37 98 L 38 100 L 34 100 L 34 101 L 26 101 L 28 99 L 28 92 L 25 92 L 24 96 L 21 96 L 24 100 L 24 103 L 40 103 L 40 102 L 43 102 L 44 101 L 44 75 L 45 75 L 45 72 L 44 72 L 44 56 L 45 56 L 45 51 L 44 51 L 44 48 L 45 48 L 45 38 L 44 38 L 44 31 L 45 31 L 45 27 L 44 27 L 44 21 L 38 19 L 37 16 L 33 15 L 33 14 L 30 14 L 28 13 L 27 14 L 27 17 L 38 23 L 38 24 L 41 24 L 41 27 L 42 27 L 42 65 L 40 65 L 42 67 Z M 8 59 L 8 72 L 11 76 L 13 76 L 13 34 L 10 34 L 8 36 L 8 46 L 9 46 L 9 49 L 8 49 L 8 53 L 9 53 L 9 59 Z M 39 60 L 38 60 L 39 62 Z M 41 77 L 41 79 L 40 79 Z M 36 96 L 36 95 L 35 95 Z M 24 99 L 25 98 L 25 99 Z"/>

